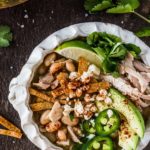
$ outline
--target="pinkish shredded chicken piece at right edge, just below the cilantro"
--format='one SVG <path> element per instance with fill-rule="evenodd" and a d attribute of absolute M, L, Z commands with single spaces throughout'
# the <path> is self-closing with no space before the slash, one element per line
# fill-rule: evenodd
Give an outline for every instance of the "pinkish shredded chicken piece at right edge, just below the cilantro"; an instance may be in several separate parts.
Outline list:
<path fill-rule="evenodd" d="M 138 71 L 150 73 L 150 67 L 145 65 L 144 63 L 142 63 L 142 62 L 140 62 L 138 60 L 134 60 L 133 64 L 134 64 L 134 67 Z"/>

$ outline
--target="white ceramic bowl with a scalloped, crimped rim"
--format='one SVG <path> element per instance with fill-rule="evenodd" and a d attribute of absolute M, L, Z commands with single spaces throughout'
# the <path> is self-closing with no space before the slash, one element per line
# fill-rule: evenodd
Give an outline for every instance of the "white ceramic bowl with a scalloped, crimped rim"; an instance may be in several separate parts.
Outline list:
<path fill-rule="evenodd" d="M 94 31 L 114 34 L 119 36 L 125 43 L 133 43 L 139 46 L 142 50 L 141 57 L 143 61 L 147 65 L 150 65 L 150 48 L 132 32 L 124 30 L 113 24 L 101 22 L 80 23 L 63 28 L 48 36 L 43 42 L 33 49 L 33 52 L 26 64 L 23 66 L 20 74 L 12 79 L 9 86 L 9 101 L 19 113 L 22 130 L 29 140 L 42 150 L 62 150 L 62 148 L 55 146 L 45 136 L 43 136 L 32 119 L 33 113 L 29 107 L 30 96 L 28 87 L 30 86 L 34 72 L 43 61 L 43 58 L 53 51 L 53 49 L 60 43 L 74 39 L 78 36 L 86 37 Z M 139 150 L 142 150 L 150 141 L 150 120 L 147 122 L 146 126 L 144 138 L 138 146 Z"/>

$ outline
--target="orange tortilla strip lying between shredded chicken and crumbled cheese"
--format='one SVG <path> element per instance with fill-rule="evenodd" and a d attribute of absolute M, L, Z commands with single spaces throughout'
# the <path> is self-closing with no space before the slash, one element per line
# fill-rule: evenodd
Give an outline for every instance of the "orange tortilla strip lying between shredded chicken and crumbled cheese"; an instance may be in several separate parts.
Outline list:
<path fill-rule="evenodd" d="M 97 82 L 97 83 L 90 83 L 89 89 L 87 90 L 87 93 L 95 93 L 98 92 L 100 89 L 109 89 L 110 84 L 108 82 Z"/>

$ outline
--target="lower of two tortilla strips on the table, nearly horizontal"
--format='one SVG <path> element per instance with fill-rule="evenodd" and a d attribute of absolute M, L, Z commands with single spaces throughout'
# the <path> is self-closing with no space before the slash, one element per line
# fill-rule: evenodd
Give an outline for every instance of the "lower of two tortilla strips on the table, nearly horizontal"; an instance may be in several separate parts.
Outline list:
<path fill-rule="evenodd" d="M 20 139 L 22 137 L 21 132 L 16 132 L 16 131 L 10 131 L 10 130 L 5 130 L 5 129 L 0 129 L 0 135 L 6 135 L 6 136 L 11 136 Z"/>

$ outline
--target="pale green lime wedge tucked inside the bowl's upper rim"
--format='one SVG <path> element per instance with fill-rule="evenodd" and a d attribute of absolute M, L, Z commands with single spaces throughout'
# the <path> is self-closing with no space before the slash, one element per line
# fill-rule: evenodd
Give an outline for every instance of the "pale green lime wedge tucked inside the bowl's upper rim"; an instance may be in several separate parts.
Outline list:
<path fill-rule="evenodd" d="M 73 41 L 70 41 L 60 45 L 56 49 L 56 53 L 76 61 L 78 61 L 79 57 L 84 57 L 91 64 L 95 64 L 98 67 L 101 66 L 102 60 L 98 57 L 96 53 L 85 48 L 86 43 L 83 42 L 84 43 L 84 48 L 83 48 L 83 45 L 81 46 L 79 45 L 79 43 L 76 42 L 72 43 L 72 42 Z"/>

